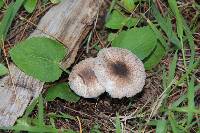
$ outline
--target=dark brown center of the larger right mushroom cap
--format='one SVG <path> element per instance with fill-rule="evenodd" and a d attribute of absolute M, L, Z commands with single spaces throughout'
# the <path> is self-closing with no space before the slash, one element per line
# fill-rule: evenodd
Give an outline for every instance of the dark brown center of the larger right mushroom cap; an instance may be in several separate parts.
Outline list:
<path fill-rule="evenodd" d="M 113 74 L 121 78 L 127 77 L 129 74 L 129 69 L 126 64 L 120 61 L 111 63 L 111 71 Z"/>

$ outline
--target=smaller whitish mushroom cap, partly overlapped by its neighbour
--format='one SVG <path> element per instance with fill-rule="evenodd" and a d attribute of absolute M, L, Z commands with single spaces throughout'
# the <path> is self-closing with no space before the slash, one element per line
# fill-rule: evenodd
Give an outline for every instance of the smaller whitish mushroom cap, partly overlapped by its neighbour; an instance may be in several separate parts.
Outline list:
<path fill-rule="evenodd" d="M 105 92 L 93 71 L 94 58 L 87 58 L 79 62 L 69 75 L 70 88 L 79 96 L 84 98 L 98 97 Z"/>

